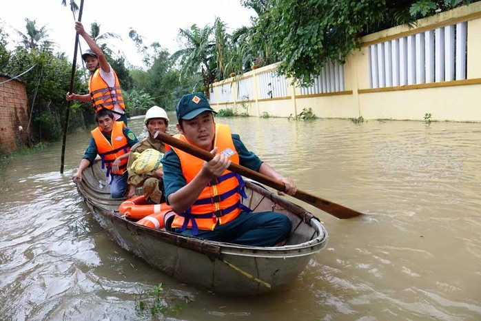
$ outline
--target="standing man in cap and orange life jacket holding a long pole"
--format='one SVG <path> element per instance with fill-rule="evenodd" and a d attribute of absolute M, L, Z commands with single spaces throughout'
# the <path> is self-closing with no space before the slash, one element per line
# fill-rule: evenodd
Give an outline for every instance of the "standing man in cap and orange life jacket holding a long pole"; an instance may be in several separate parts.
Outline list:
<path fill-rule="evenodd" d="M 90 80 L 88 82 L 89 94 L 66 94 L 68 101 L 77 100 L 84 103 L 91 101 L 94 105 L 94 112 L 99 112 L 102 108 L 114 113 L 115 121 L 123 121 L 127 126 L 127 115 L 123 103 L 122 90 L 115 71 L 110 67 L 105 55 L 99 45 L 85 32 L 81 22 L 75 22 L 76 32 L 85 39 L 90 49 L 82 54 L 82 59 L 90 70 Z"/>

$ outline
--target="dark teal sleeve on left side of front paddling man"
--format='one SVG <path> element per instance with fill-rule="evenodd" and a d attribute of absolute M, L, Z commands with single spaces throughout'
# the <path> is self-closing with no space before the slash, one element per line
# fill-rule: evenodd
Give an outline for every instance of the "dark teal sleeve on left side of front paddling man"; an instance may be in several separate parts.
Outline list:
<path fill-rule="evenodd" d="M 187 185 L 187 181 L 182 173 L 181 160 L 173 149 L 165 153 L 161 163 L 164 172 L 165 198 L 167 198 L 168 203 L 168 196 Z"/>

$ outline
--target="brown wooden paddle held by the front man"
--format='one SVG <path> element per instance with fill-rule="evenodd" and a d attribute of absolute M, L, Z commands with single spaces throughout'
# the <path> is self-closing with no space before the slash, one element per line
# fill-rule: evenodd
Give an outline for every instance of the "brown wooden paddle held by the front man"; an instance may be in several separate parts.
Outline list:
<path fill-rule="evenodd" d="M 197 158 L 201 158 L 204 161 L 208 162 L 212 158 L 214 158 L 213 154 L 210 154 L 204 149 L 184 143 L 183 141 L 174 138 L 168 134 L 156 132 L 154 138 L 160 139 L 164 143 L 181 149 L 184 152 L 196 156 Z M 255 172 L 252 169 L 248 169 L 247 167 L 231 163 L 228 169 L 231 172 L 241 174 L 242 176 L 251 178 L 252 180 L 256 180 L 257 182 L 263 183 L 264 185 L 277 189 L 278 191 L 285 191 L 285 185 L 282 182 L 274 180 L 269 176 L 265 176 L 264 174 Z M 333 203 L 329 200 L 325 200 L 324 198 L 314 196 L 299 189 L 296 191 L 296 194 L 292 195 L 292 197 L 295 197 L 298 200 L 302 200 L 305 203 L 313 205 L 318 209 L 325 211 L 326 213 L 336 216 L 336 218 L 353 218 L 354 216 L 362 215 L 362 213 L 354 211 L 354 209 L 349 209 L 347 207 Z"/>

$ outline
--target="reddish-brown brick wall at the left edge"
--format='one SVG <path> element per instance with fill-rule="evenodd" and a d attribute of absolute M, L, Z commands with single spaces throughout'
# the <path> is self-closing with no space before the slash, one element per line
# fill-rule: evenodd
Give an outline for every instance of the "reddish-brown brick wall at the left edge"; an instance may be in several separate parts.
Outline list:
<path fill-rule="evenodd" d="M 25 146 L 28 139 L 29 114 L 25 84 L 9 79 L 10 76 L 0 74 L 0 155 Z"/>

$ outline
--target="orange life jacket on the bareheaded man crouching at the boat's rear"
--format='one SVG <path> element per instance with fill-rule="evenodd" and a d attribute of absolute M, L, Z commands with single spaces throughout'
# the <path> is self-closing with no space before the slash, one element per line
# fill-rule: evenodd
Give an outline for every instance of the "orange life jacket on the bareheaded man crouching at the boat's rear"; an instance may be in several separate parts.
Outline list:
<path fill-rule="evenodd" d="M 97 154 L 99 154 L 102 158 L 102 168 L 107 166 L 107 176 L 110 176 L 110 172 L 112 171 L 112 163 L 114 163 L 115 158 L 130 151 L 127 137 L 125 137 L 123 134 L 123 128 L 125 128 L 123 121 L 114 121 L 112 134 L 110 136 L 110 143 L 102 134 L 101 127 L 96 127 L 96 129 L 92 130 L 91 132 L 97 147 Z M 128 158 L 123 158 L 119 164 L 119 172 L 112 174 L 122 175 L 124 170 L 127 168 L 127 161 Z"/>

